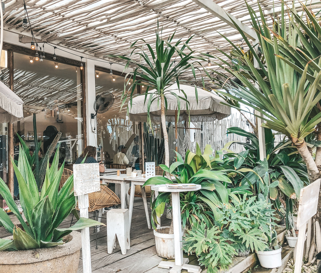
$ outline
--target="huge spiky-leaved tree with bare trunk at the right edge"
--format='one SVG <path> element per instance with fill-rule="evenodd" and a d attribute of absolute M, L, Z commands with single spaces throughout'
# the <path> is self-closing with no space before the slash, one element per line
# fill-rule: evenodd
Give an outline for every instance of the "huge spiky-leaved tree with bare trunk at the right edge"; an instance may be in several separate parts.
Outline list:
<path fill-rule="evenodd" d="M 275 14 L 273 25 L 269 28 L 260 5 L 258 18 L 253 8 L 247 4 L 252 26 L 258 34 L 258 48 L 264 59 L 258 56 L 256 45 L 252 45 L 242 29 L 235 24 L 257 65 L 255 66 L 237 45 L 225 37 L 235 52 L 243 56 L 246 63 L 235 58 L 235 54 L 232 57 L 218 49 L 229 60 L 217 57 L 219 62 L 216 64 L 236 77 L 241 84 L 227 83 L 224 87 L 228 90 L 227 93 L 223 90 L 216 92 L 254 108 L 265 120 L 262 126 L 289 137 L 306 163 L 310 181 L 315 181 L 320 177 L 320 172 L 308 150 L 305 137 L 314 132 L 315 127 L 321 122 L 321 112 L 317 107 L 321 99 L 321 28 L 312 13 L 302 6 L 310 20 L 308 24 L 295 11 L 287 9 L 285 12 L 282 3 L 282 15 Z M 311 22 L 313 28 L 309 25 Z M 210 76 L 209 73 L 208 75 Z"/>

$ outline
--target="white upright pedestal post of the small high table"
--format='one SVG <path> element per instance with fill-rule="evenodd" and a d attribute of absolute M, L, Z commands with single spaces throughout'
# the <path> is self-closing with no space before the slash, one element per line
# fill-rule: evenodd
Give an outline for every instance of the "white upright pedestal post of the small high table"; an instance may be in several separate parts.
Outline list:
<path fill-rule="evenodd" d="M 181 211 L 179 202 L 179 192 L 172 192 L 172 218 L 174 228 L 174 253 L 175 253 L 175 265 L 182 266 L 183 250 L 182 250 L 182 222 Z"/>

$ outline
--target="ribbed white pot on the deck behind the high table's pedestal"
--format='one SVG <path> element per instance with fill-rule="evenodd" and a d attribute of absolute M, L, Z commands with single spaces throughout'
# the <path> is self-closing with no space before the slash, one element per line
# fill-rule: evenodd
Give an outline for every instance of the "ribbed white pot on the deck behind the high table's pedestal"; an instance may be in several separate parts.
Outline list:
<path fill-rule="evenodd" d="M 154 230 L 155 246 L 158 256 L 174 259 L 174 234 L 168 234 L 170 227 L 160 227 Z"/>

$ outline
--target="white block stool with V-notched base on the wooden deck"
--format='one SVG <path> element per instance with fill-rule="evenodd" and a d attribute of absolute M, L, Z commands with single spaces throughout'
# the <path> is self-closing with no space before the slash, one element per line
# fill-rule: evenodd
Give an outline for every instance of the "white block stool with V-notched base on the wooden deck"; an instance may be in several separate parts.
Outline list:
<path fill-rule="evenodd" d="M 123 255 L 130 249 L 129 210 L 111 209 L 106 213 L 107 219 L 107 252 L 111 254 L 116 245 L 116 237 Z"/>

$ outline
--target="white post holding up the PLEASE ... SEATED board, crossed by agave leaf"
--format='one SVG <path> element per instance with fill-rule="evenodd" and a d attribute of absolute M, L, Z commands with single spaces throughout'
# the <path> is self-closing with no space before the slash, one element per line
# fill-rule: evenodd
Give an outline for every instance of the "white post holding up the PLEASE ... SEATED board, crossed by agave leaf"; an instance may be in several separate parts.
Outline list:
<path fill-rule="evenodd" d="M 80 217 L 88 218 L 88 194 L 78 196 L 78 208 Z M 90 237 L 89 228 L 84 228 L 81 231 L 82 245 L 82 270 L 84 273 L 91 273 L 91 254 L 90 254 Z"/>

